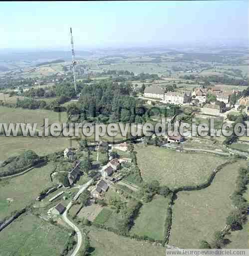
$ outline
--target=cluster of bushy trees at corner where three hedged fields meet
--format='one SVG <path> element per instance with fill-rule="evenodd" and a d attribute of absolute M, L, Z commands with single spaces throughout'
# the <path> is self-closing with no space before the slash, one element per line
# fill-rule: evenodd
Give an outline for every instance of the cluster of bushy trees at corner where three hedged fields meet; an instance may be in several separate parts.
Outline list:
<path fill-rule="evenodd" d="M 155 179 L 148 183 L 144 183 L 139 193 L 143 201 L 150 202 L 155 194 L 167 197 L 172 193 L 172 191 L 166 185 L 160 186 L 159 181 Z"/>

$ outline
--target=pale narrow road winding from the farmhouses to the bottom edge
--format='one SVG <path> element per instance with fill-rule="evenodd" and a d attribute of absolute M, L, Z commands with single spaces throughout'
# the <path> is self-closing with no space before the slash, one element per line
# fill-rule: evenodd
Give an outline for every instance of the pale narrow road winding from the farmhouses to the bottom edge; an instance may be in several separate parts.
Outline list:
<path fill-rule="evenodd" d="M 92 183 L 93 179 L 90 179 L 87 183 L 85 183 L 84 185 L 80 186 L 79 188 L 79 191 L 76 193 L 76 195 L 73 197 L 73 200 L 77 200 L 80 196 L 80 194 Z M 82 244 L 82 233 L 80 231 L 80 229 L 71 221 L 68 219 L 67 217 L 67 212 L 68 210 L 71 208 L 72 206 L 72 201 L 70 201 L 67 206 L 66 206 L 66 209 L 62 215 L 63 217 L 63 220 L 69 225 L 71 226 L 75 232 L 76 232 L 76 235 L 77 235 L 77 245 L 76 247 L 74 248 L 71 256 L 76 256 L 77 253 L 79 252 L 79 249 L 81 247 L 81 244 Z"/>

